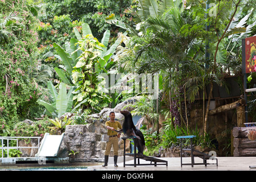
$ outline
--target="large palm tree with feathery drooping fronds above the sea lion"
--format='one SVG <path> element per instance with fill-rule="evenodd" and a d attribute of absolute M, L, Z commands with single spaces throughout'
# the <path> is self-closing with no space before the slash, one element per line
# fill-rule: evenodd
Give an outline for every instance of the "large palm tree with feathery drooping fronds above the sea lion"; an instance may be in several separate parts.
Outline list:
<path fill-rule="evenodd" d="M 119 67 L 137 73 L 163 71 L 169 74 L 165 77 L 169 80 L 166 82 L 170 83 L 174 77 L 179 77 L 175 82 L 176 87 L 180 87 L 185 72 L 181 68 L 192 59 L 190 55 L 193 55 L 191 51 L 195 52 L 193 48 L 200 50 L 203 40 L 199 39 L 199 30 L 203 30 L 203 27 L 204 23 L 195 18 L 191 11 L 176 7 L 168 9 L 161 16 L 149 16 L 141 23 L 142 34 L 127 38 L 126 47 L 119 47 Z M 165 92 L 170 93 L 166 95 L 171 100 L 172 89 L 165 87 Z"/>

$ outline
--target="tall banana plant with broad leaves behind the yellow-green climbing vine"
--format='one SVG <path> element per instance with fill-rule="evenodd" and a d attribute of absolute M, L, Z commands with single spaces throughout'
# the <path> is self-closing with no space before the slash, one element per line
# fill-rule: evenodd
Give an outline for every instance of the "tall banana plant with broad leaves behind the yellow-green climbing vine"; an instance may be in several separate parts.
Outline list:
<path fill-rule="evenodd" d="M 63 81 L 65 84 L 69 86 L 74 86 L 74 85 L 77 86 L 77 90 L 73 92 L 73 94 L 75 94 L 74 100 L 77 100 L 77 102 L 72 111 L 76 110 L 78 107 L 80 107 L 80 105 L 87 104 L 88 102 L 93 103 L 94 106 L 97 105 L 97 102 L 92 102 L 89 98 L 81 97 L 81 92 L 79 92 L 79 88 L 81 85 L 77 85 L 79 84 L 77 83 L 77 78 L 83 77 L 82 76 L 83 73 L 77 71 L 78 68 L 81 68 L 84 66 L 84 65 L 80 65 L 82 63 L 80 59 L 83 54 L 83 51 L 82 51 L 83 48 L 81 48 L 83 44 L 81 42 L 82 42 L 82 39 L 85 38 L 86 36 L 92 35 L 92 31 L 90 30 L 89 25 L 84 23 L 82 24 L 82 35 L 80 35 L 79 31 L 76 28 L 74 29 L 74 32 L 77 39 L 71 39 L 70 42 L 66 42 L 64 45 L 64 48 L 57 43 L 53 43 L 53 47 L 55 48 L 58 54 L 56 55 L 56 57 L 59 57 L 59 59 L 64 64 L 64 65 L 59 65 L 59 68 L 55 68 L 57 75 L 61 78 L 61 81 Z M 99 73 L 108 73 L 109 69 L 114 66 L 114 61 L 110 58 L 114 54 L 117 46 L 121 43 L 122 38 L 118 38 L 115 41 L 115 43 L 108 48 L 109 38 L 110 38 L 110 31 L 106 30 L 101 40 L 101 44 L 98 44 L 96 46 L 96 49 L 98 52 L 97 57 L 90 58 L 90 59 L 97 59 L 98 64 L 94 64 L 93 66 L 93 68 L 95 69 L 94 71 L 97 73 L 97 75 Z M 65 71 L 67 73 L 65 73 Z M 88 81 L 85 81 L 85 86 L 87 87 L 88 85 L 86 84 L 88 84 Z M 91 81 L 92 79 L 90 79 L 90 82 Z"/>

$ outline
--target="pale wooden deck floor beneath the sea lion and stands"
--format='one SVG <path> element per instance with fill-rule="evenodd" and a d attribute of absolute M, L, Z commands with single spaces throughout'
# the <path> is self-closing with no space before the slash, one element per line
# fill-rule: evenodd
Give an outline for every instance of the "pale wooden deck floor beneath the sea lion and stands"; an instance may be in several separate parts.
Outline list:
<path fill-rule="evenodd" d="M 250 166 L 256 167 L 256 157 L 217 157 L 218 166 L 216 164 L 198 165 L 198 166 L 180 166 L 180 158 L 159 158 L 168 161 L 168 166 L 126 166 L 123 167 L 123 163 L 118 163 L 118 167 L 114 167 L 113 164 L 109 164 L 108 167 L 102 166 L 90 166 L 88 170 L 101 171 L 101 170 L 124 170 L 124 171 L 256 171 L 256 168 L 250 168 Z M 184 163 L 191 163 L 191 158 L 182 158 Z M 133 164 L 134 160 L 126 160 L 127 164 Z M 202 162 L 201 158 L 195 157 L 195 162 Z M 143 160 L 141 161 L 143 163 Z M 146 162 L 145 162 L 146 163 Z"/>

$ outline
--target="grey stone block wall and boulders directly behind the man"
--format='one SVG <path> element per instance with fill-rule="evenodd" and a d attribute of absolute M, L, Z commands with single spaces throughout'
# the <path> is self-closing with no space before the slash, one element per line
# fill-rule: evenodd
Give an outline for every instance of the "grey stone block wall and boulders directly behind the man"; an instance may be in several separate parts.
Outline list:
<path fill-rule="evenodd" d="M 115 120 L 119 121 L 122 125 L 124 117 L 119 111 L 126 104 L 127 102 L 122 102 L 114 109 L 105 108 L 98 114 L 89 115 L 86 118 L 86 125 L 68 125 L 57 156 L 59 158 L 66 158 L 73 151 L 77 153 L 74 158 L 71 158 L 71 162 L 104 162 L 106 148 L 104 137 L 107 135 L 105 122 L 109 120 L 110 111 L 114 111 Z M 131 108 L 127 108 L 127 110 L 131 110 Z M 123 155 L 123 147 L 123 140 L 120 138 L 119 156 Z M 129 150 L 130 140 L 127 140 L 126 151 Z M 110 156 L 113 156 L 113 150 L 110 151 Z"/>

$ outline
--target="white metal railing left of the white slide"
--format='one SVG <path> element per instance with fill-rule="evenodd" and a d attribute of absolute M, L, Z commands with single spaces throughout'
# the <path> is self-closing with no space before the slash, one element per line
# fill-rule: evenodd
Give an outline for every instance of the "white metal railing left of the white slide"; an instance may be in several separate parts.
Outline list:
<path fill-rule="evenodd" d="M 38 139 L 38 146 L 37 147 L 23 147 L 23 146 L 19 146 L 19 139 Z M 7 158 L 9 158 L 9 150 L 10 149 L 19 149 L 19 148 L 38 148 L 39 150 L 39 146 L 40 146 L 40 138 L 41 137 L 0 137 L 0 140 L 1 140 L 1 146 L 0 146 L 0 150 L 2 150 L 2 156 L 1 158 L 5 158 L 4 155 L 3 155 L 3 152 L 4 150 L 7 149 Z M 7 140 L 7 146 L 4 147 L 3 146 L 3 141 L 4 140 Z M 9 140 L 16 140 L 16 147 L 10 147 L 9 146 Z M 18 152 L 17 152 L 17 157 L 18 157 Z"/>

